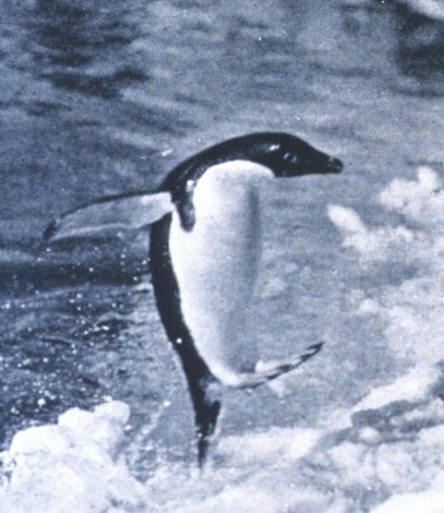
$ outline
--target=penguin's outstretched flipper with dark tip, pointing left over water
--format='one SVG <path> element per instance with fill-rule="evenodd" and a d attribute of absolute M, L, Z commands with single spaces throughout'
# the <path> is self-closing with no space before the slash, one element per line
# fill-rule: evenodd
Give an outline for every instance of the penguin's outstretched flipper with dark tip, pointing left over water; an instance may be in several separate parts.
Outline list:
<path fill-rule="evenodd" d="M 172 208 L 168 192 L 143 191 L 106 196 L 58 216 L 47 226 L 44 239 L 55 242 L 143 228 Z"/>

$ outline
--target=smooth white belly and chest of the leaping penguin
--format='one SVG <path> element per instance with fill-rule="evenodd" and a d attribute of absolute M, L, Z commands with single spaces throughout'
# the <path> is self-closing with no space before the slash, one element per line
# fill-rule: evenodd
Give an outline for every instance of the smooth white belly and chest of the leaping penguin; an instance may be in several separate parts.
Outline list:
<path fill-rule="evenodd" d="M 209 370 L 229 385 L 259 360 L 245 329 L 261 256 L 255 186 L 271 177 L 268 168 L 247 160 L 213 166 L 194 190 L 192 230 L 172 215 L 169 250 L 183 320 Z"/>

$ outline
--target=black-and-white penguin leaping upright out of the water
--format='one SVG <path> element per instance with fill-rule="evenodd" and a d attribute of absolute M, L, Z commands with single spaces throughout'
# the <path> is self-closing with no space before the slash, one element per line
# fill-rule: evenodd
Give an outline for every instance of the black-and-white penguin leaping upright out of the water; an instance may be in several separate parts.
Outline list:
<path fill-rule="evenodd" d="M 201 467 L 220 413 L 220 398 L 214 393 L 218 384 L 254 389 L 296 369 L 322 347 L 322 343 L 315 344 L 302 355 L 260 369 L 257 346 L 248 333 L 261 261 L 259 184 L 275 177 L 338 174 L 343 167 L 338 158 L 296 135 L 250 133 L 182 162 L 154 193 L 142 191 L 99 201 L 151 205 L 149 214 L 132 224 L 151 224 L 155 299 L 187 378 Z M 72 231 L 82 211 L 62 215 L 49 226 L 47 237 L 53 238 L 60 230 L 59 237 L 63 237 L 63 224 L 69 227 L 67 234 Z M 93 229 L 99 220 L 89 218 Z"/>

